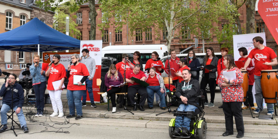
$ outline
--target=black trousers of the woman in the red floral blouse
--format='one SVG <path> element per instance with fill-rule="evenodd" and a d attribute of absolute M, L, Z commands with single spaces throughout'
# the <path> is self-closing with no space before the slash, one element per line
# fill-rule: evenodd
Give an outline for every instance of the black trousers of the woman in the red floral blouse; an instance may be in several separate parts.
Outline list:
<path fill-rule="evenodd" d="M 223 111 L 225 114 L 225 125 L 227 133 L 234 133 L 234 116 L 237 133 L 244 134 L 241 106 L 242 102 L 223 102 Z"/>

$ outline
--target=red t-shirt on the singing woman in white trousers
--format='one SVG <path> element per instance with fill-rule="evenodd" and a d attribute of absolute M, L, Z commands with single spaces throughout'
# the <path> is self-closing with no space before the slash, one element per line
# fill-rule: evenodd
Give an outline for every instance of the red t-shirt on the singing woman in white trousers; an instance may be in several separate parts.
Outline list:
<path fill-rule="evenodd" d="M 49 68 L 46 69 L 46 72 L 48 71 Z M 47 90 L 54 90 L 52 82 L 61 80 L 62 78 L 67 78 L 66 77 L 66 69 L 63 64 L 58 64 L 55 66 L 52 64 L 50 68 L 50 74 L 48 78 L 48 84 L 47 84 Z"/>

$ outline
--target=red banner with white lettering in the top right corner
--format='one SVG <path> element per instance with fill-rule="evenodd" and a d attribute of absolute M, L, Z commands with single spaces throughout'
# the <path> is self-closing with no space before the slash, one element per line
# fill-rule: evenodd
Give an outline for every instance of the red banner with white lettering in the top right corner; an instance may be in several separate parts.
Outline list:
<path fill-rule="evenodd" d="M 258 12 L 278 44 L 278 1 L 259 0 Z"/>

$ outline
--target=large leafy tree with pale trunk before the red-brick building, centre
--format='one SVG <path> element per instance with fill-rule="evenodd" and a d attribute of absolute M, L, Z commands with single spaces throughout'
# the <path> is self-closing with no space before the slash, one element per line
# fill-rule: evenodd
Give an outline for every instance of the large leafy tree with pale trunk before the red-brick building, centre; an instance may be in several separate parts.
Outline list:
<path fill-rule="evenodd" d="M 169 50 L 172 39 L 189 33 L 209 38 L 210 29 L 218 30 L 213 23 L 218 22 L 219 16 L 229 16 L 229 11 L 234 10 L 227 5 L 227 0 L 106 0 L 100 5 L 104 14 L 103 23 L 98 26 L 104 30 L 115 25 L 118 31 L 127 24 L 129 37 L 136 36 L 138 29 L 142 32 L 153 26 L 157 36 L 163 31 Z M 186 31 L 178 32 L 180 28 Z"/>

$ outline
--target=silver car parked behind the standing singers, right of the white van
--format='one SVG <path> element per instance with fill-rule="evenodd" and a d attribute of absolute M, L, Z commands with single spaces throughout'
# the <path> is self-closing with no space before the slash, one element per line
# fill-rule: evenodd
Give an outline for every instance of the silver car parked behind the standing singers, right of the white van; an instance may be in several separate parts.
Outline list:
<path fill-rule="evenodd" d="M 221 53 L 214 53 L 215 54 L 215 56 L 217 56 L 217 58 L 222 58 L 222 55 L 221 55 Z M 201 63 L 201 66 L 204 66 L 203 65 L 203 60 L 204 60 L 204 58 L 205 58 L 205 55 L 206 55 L 206 53 L 195 53 L 195 55 L 196 55 L 196 57 L 197 57 L 197 59 L 200 61 L 200 63 Z M 186 58 L 186 56 L 187 56 L 187 54 L 177 54 L 177 57 L 178 58 Z M 163 65 L 164 65 L 164 67 L 165 67 L 165 61 L 166 61 L 166 59 L 167 59 L 167 56 L 163 56 L 162 58 L 161 58 L 161 61 L 162 61 L 162 63 L 163 63 Z M 166 65 L 167 66 L 167 65 Z M 201 83 L 201 80 L 202 80 L 202 70 L 200 71 L 200 76 L 199 76 L 199 83 Z M 166 74 L 166 72 L 164 72 L 164 73 L 162 73 L 162 76 L 163 77 L 166 77 L 166 76 L 168 76 L 167 74 Z M 216 72 L 216 76 L 217 76 L 217 72 Z M 217 86 L 217 84 L 216 84 L 216 80 L 215 80 L 215 87 L 214 87 L 214 89 L 216 88 L 216 86 Z M 207 87 L 206 87 L 206 91 L 207 92 L 210 92 L 209 91 L 209 85 L 207 85 Z"/>

